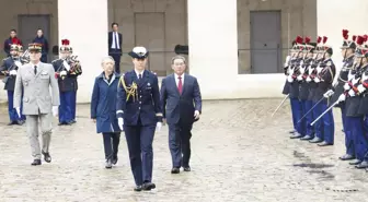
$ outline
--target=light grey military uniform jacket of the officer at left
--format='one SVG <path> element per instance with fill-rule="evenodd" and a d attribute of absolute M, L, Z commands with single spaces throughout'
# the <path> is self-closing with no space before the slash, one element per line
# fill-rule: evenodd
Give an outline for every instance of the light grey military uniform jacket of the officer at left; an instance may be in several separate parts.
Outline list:
<path fill-rule="evenodd" d="M 53 97 L 49 87 L 51 87 Z M 22 91 L 23 99 L 21 98 Z M 31 63 L 26 63 L 18 70 L 14 108 L 21 107 L 21 102 L 23 102 L 23 115 L 50 114 L 53 106 L 60 105 L 59 86 L 51 64 L 39 62 L 36 75 Z"/>

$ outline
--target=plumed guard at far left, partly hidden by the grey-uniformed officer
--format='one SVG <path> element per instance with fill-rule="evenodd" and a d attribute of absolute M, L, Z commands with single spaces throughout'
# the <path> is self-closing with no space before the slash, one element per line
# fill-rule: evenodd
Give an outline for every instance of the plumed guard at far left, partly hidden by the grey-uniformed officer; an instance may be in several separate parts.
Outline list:
<path fill-rule="evenodd" d="M 16 40 L 13 40 L 13 43 L 10 45 L 10 57 L 3 59 L 0 68 L 1 74 L 5 75 L 3 82 L 5 83 L 4 90 L 8 92 L 8 112 L 10 118 L 8 126 L 23 124 L 25 120 L 25 116 L 22 115 L 23 107 L 21 106 L 21 116 L 18 115 L 13 107 L 16 73 L 19 68 L 22 67 L 18 52 L 19 44 L 16 44 Z"/>

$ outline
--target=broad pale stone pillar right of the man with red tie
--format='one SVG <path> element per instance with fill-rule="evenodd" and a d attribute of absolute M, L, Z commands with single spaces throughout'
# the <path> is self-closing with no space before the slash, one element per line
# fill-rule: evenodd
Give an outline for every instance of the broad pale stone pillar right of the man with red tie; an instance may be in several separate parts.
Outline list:
<path fill-rule="evenodd" d="M 237 0 L 188 0 L 187 12 L 189 72 L 204 98 L 223 98 L 238 76 Z"/>

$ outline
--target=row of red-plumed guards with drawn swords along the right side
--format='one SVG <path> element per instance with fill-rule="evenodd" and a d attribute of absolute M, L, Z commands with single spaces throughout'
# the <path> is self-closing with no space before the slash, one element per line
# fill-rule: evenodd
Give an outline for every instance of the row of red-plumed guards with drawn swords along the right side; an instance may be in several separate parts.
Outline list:
<path fill-rule="evenodd" d="M 343 67 L 336 74 L 327 37 L 311 43 L 309 37 L 298 36 L 285 62 L 287 79 L 283 94 L 290 98 L 294 123 L 290 138 L 319 146 L 334 144 L 332 109 L 340 108 L 346 146 L 340 159 L 364 169 L 368 168 L 367 35 L 349 39 L 348 31 L 343 29 Z"/>

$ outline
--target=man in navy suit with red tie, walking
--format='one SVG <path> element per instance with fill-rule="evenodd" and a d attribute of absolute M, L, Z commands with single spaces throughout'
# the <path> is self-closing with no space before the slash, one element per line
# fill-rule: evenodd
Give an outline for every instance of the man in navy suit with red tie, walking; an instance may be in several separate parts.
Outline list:
<path fill-rule="evenodd" d="M 175 56 L 171 63 L 175 73 L 162 80 L 161 104 L 169 124 L 171 173 L 179 174 L 181 167 L 191 171 L 191 130 L 202 112 L 202 96 L 197 79 L 184 73 L 185 58 Z"/>

